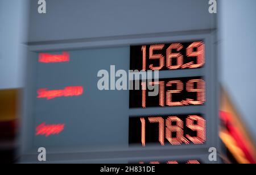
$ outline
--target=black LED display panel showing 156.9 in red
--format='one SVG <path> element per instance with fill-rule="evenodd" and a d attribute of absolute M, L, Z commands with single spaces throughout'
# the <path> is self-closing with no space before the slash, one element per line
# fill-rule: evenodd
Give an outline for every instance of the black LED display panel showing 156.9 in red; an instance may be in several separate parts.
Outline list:
<path fill-rule="evenodd" d="M 131 70 L 196 69 L 205 64 L 203 41 L 130 47 Z"/>

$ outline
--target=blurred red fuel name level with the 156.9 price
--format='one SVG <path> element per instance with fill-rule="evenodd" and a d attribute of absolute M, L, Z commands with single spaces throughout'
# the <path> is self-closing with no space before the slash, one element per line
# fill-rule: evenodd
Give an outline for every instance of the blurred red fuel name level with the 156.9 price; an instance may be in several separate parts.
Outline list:
<path fill-rule="evenodd" d="M 69 61 L 68 52 L 63 52 L 61 55 L 39 53 L 39 62 L 51 63 L 51 62 L 68 62 L 68 61 Z"/>

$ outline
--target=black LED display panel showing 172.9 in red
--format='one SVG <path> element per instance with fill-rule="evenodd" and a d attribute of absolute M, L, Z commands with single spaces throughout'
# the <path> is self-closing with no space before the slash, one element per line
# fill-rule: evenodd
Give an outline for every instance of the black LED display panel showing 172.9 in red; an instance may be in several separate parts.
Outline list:
<path fill-rule="evenodd" d="M 147 85 L 159 85 L 157 96 L 149 96 Z M 206 99 L 203 77 L 167 78 L 157 82 L 141 82 L 141 90 L 130 90 L 130 108 L 204 105 Z"/>

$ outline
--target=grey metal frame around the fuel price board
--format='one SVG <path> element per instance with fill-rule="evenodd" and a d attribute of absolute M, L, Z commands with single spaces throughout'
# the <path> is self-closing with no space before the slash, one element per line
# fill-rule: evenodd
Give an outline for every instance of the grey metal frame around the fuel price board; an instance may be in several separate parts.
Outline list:
<path fill-rule="evenodd" d="M 187 32 L 170 32 L 151 35 L 136 35 L 133 37 L 108 38 L 102 40 L 84 40 L 71 41 L 67 43 L 52 43 L 38 44 L 28 46 L 28 60 L 35 58 L 36 52 L 56 51 L 67 49 L 86 49 L 86 48 L 102 48 L 102 47 L 119 47 L 138 44 L 150 43 L 171 43 L 175 41 L 191 41 L 204 40 L 206 52 L 206 64 L 204 68 L 195 70 L 171 70 L 160 72 L 159 78 L 172 77 L 193 77 L 204 76 L 207 84 L 207 103 L 204 106 L 185 106 L 185 107 L 164 107 L 164 108 L 149 108 L 149 109 L 130 109 L 129 116 L 143 115 L 164 115 L 164 114 L 191 114 L 202 113 L 207 120 L 207 142 L 203 145 L 180 145 L 170 147 L 130 147 L 128 149 L 102 149 L 99 152 L 88 152 L 84 148 L 59 149 L 50 148 L 47 150 L 48 157 L 52 157 L 49 163 L 127 163 L 132 160 L 149 160 L 155 158 L 157 160 L 164 157 L 184 157 L 186 155 L 207 155 L 210 147 L 218 148 L 218 69 L 217 69 L 217 54 L 216 54 L 216 31 L 215 30 L 198 30 Z M 22 116 L 22 148 L 20 149 L 21 163 L 36 163 L 38 153 L 32 148 L 32 138 L 34 126 L 32 125 L 32 106 L 34 103 L 31 97 L 30 90 L 34 86 L 35 67 L 31 65 L 31 61 L 27 61 L 27 84 L 24 90 L 24 106 Z M 129 95 L 129 91 L 127 91 Z M 127 123 L 128 124 L 128 123 Z M 32 131 L 32 132 L 31 132 Z M 200 156 L 199 156 L 200 157 Z M 205 156 L 201 159 L 207 161 Z"/>

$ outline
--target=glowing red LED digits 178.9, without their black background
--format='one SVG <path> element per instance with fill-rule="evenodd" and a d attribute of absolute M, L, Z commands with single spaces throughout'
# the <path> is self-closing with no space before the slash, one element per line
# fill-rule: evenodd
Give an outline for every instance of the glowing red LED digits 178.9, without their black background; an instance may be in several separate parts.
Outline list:
<path fill-rule="evenodd" d="M 141 119 L 141 143 L 146 146 L 146 119 Z M 198 115 L 189 115 L 184 122 L 177 116 L 168 116 L 164 119 L 161 116 L 147 118 L 149 123 L 158 123 L 158 140 L 161 145 L 165 145 L 165 139 L 171 145 L 189 144 L 203 144 L 206 141 L 206 124 L 205 119 Z M 164 127 L 165 126 L 165 127 Z M 196 132 L 195 136 L 191 136 L 188 130 Z M 152 131 L 150 131 L 152 132 Z M 147 133 L 150 133 L 147 132 Z"/>

